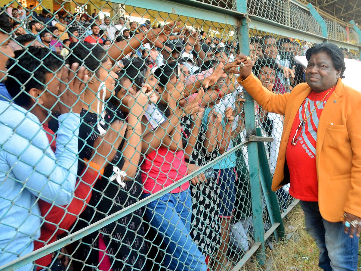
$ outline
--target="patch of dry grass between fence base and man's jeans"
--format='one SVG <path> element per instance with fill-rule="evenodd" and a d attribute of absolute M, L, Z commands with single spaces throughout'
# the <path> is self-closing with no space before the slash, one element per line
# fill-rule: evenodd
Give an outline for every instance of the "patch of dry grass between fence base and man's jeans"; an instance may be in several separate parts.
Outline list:
<path fill-rule="evenodd" d="M 274 250 L 267 248 L 266 266 L 260 266 L 252 259 L 241 271 L 322 271 L 318 267 L 319 250 L 305 231 L 304 213 L 299 205 L 288 214 L 284 228 L 286 236 L 292 232 L 293 235 L 289 240 L 274 242 Z"/>

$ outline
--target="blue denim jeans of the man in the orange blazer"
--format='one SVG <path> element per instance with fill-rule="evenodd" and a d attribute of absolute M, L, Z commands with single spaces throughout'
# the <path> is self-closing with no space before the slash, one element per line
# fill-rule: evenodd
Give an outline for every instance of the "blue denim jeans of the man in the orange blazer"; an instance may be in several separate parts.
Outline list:
<path fill-rule="evenodd" d="M 325 271 L 356 271 L 359 238 L 350 238 L 342 222 L 323 219 L 318 202 L 300 201 L 300 205 L 305 212 L 306 231 L 320 250 L 319 267 Z"/>

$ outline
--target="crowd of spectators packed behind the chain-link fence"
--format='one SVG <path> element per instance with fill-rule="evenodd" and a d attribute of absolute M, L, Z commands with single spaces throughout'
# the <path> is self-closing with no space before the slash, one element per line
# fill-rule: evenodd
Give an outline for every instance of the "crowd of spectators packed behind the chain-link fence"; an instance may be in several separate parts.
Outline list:
<path fill-rule="evenodd" d="M 244 132 L 234 40 L 179 23 L 100 21 L 97 10 L 37 14 L 34 6 L 13 4 L 0 13 L 0 29 L 2 263 L 172 185 L 230 150 Z M 270 91 L 285 93 L 304 82 L 304 68 L 294 60 L 302 53 L 299 42 L 253 36 L 249 49 L 254 73 Z M 268 146 L 272 171 L 283 119 L 257 110 L 264 133 L 275 138 Z M 250 216 L 237 200 L 238 190 L 249 193 L 247 165 L 239 167 L 237 159 L 219 160 L 62 249 L 71 263 L 49 254 L 35 261 L 36 270 L 67 264 L 152 270 L 161 257 L 169 270 L 206 271 L 215 252 L 214 270 L 232 267 L 224 257 L 229 247 L 252 245 L 252 225 L 232 229 L 233 216 L 243 222 Z M 205 230 L 209 225 L 219 227 L 217 236 Z"/>

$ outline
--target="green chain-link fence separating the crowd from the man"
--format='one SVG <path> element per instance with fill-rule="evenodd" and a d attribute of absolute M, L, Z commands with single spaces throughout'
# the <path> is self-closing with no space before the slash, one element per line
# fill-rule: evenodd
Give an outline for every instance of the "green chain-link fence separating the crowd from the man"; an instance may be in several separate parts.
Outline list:
<path fill-rule="evenodd" d="M 304 6 L 260 3 L 6 3 L 0 270 L 239 270 L 257 249 L 265 259 L 295 202 L 287 185 L 270 190 L 283 116 L 243 91 L 240 52 L 285 93 L 323 39 Z M 330 23 L 357 57 L 357 33 Z"/>

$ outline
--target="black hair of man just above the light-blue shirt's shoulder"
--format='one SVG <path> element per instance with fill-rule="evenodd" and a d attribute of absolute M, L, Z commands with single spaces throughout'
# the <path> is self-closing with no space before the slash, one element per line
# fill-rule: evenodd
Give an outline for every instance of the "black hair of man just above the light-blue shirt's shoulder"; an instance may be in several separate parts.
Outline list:
<path fill-rule="evenodd" d="M 43 90 L 45 75 L 59 70 L 64 60 L 61 55 L 44 47 L 29 46 L 15 51 L 14 54 L 14 59 L 9 59 L 6 64 L 8 78 L 5 86 L 17 105 L 29 108 L 31 105 L 30 96 L 27 94 L 29 90 L 32 88 Z"/>

